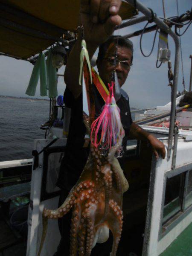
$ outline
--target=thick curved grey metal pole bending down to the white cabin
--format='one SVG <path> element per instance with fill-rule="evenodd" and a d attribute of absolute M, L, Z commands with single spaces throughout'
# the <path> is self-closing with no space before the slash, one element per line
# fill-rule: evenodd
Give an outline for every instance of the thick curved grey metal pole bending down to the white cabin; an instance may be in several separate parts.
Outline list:
<path fill-rule="evenodd" d="M 126 2 L 134 5 L 134 0 L 126 0 Z M 148 17 L 148 19 L 152 18 L 151 11 L 148 8 L 146 8 L 142 3 L 140 3 L 138 0 L 137 0 L 137 9 L 140 12 L 142 12 L 146 17 Z M 174 65 L 172 105 L 171 105 L 170 126 L 169 126 L 168 152 L 167 152 L 167 160 L 169 160 L 171 157 L 173 134 L 174 134 L 174 128 L 175 128 L 175 119 L 176 119 L 175 110 L 176 110 L 176 98 L 177 98 L 177 81 L 178 81 L 178 73 L 179 73 L 180 42 L 177 35 L 162 20 L 160 20 L 158 17 L 154 17 L 153 21 L 161 29 L 167 32 L 175 42 L 175 65 Z"/>

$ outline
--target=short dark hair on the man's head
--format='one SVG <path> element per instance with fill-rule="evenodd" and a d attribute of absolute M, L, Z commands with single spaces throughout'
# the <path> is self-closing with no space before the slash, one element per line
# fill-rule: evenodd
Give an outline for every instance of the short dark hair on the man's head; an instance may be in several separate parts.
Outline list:
<path fill-rule="evenodd" d="M 99 53 L 98 53 L 98 60 L 102 60 L 105 56 L 105 53 L 108 49 L 108 47 L 110 46 L 111 43 L 114 43 L 116 45 L 119 46 L 124 46 L 127 47 L 128 49 L 131 50 L 132 52 L 132 57 L 131 57 L 131 63 L 133 61 L 133 43 L 131 42 L 131 40 L 126 39 L 124 37 L 122 37 L 121 35 L 112 35 L 110 38 L 108 38 L 107 41 L 105 41 L 105 43 L 100 44 L 99 46 Z"/>

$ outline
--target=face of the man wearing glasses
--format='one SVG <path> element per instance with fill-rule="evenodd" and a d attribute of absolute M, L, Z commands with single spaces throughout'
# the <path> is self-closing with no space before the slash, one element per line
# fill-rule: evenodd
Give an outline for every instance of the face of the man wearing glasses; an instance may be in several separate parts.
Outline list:
<path fill-rule="evenodd" d="M 115 57 L 117 55 L 117 59 L 119 61 L 123 61 L 124 64 L 121 64 L 117 61 L 116 67 L 113 65 L 113 61 L 110 62 L 110 58 Z M 128 76 L 130 67 L 131 67 L 131 57 L 132 52 L 130 49 L 124 46 L 112 46 L 109 47 L 107 52 L 105 53 L 104 58 L 100 61 L 97 61 L 97 67 L 99 71 L 99 76 L 104 81 L 104 83 L 107 85 L 108 82 L 111 81 L 111 75 L 113 70 L 116 71 L 119 85 L 122 87 L 122 85 L 125 83 L 125 80 Z"/>

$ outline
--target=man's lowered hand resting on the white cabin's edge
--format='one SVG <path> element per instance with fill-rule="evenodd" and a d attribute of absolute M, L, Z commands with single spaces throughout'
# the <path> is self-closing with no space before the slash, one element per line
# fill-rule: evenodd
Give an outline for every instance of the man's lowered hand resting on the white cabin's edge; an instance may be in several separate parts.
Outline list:
<path fill-rule="evenodd" d="M 148 141 L 151 144 L 155 158 L 158 159 L 160 155 L 164 159 L 166 156 L 164 144 L 156 137 L 154 137 L 152 134 L 148 135 Z"/>

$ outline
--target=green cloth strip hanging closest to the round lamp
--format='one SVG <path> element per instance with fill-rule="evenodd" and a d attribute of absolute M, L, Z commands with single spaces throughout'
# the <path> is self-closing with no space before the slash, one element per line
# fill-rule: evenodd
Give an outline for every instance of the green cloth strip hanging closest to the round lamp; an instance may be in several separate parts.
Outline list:
<path fill-rule="evenodd" d="M 49 90 L 49 98 L 58 96 L 57 92 L 57 70 L 52 66 L 51 49 L 47 55 L 47 89 Z"/>

